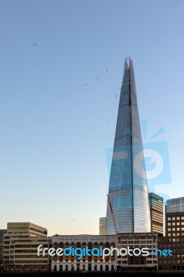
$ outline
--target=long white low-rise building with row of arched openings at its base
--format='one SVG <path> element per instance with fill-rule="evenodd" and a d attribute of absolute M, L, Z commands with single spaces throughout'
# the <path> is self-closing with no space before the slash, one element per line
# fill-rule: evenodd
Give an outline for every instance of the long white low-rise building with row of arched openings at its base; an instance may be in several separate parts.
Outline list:
<path fill-rule="evenodd" d="M 51 267 L 55 271 L 112 271 L 116 265 L 116 252 L 113 256 L 97 256 L 100 247 L 116 247 L 116 235 L 54 235 L 52 238 L 52 247 L 55 249 L 71 249 L 70 256 L 53 256 L 51 258 Z M 75 255 L 73 249 L 82 249 L 79 257 Z M 93 250 L 92 250 L 93 249 Z M 73 251 L 73 252 L 72 252 Z M 88 255 L 87 252 L 93 251 L 94 255 Z"/>

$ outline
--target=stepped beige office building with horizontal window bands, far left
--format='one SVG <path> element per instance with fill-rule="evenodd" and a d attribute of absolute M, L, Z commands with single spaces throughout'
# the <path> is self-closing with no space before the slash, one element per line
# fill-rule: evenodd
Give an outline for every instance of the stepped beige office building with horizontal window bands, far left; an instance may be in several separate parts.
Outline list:
<path fill-rule="evenodd" d="M 8 223 L 3 234 L 3 269 L 8 271 L 50 270 L 50 257 L 37 256 L 37 247 L 50 247 L 47 229 L 30 222 Z"/>

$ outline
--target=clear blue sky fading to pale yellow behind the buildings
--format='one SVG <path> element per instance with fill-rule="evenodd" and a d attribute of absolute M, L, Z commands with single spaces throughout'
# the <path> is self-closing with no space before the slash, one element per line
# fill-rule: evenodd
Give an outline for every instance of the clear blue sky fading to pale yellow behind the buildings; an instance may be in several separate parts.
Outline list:
<path fill-rule="evenodd" d="M 184 196 L 183 14 L 182 0 L 1 0 L 0 229 L 98 233 L 129 55 L 147 137 L 163 126 L 169 149 L 155 192 Z"/>

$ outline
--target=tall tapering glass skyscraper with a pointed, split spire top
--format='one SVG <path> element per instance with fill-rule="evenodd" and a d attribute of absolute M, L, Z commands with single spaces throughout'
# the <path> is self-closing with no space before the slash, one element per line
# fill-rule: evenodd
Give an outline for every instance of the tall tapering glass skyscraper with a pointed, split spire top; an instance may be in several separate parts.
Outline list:
<path fill-rule="evenodd" d="M 130 57 L 125 59 L 108 195 L 107 235 L 151 232 L 136 83 Z"/>

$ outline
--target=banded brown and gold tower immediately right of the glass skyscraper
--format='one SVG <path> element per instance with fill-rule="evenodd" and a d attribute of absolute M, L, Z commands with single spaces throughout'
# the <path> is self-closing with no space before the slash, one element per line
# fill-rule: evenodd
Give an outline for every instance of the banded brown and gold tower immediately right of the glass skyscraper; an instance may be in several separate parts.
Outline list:
<path fill-rule="evenodd" d="M 164 202 L 163 197 L 149 193 L 149 208 L 151 215 L 151 232 L 164 234 Z"/>

